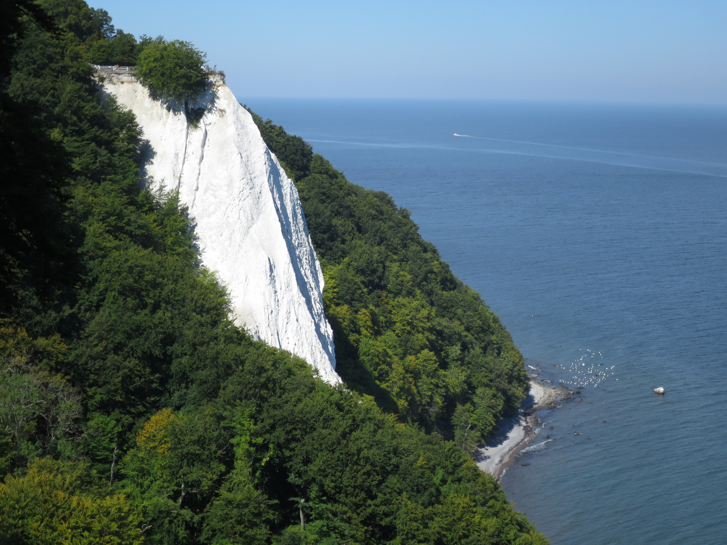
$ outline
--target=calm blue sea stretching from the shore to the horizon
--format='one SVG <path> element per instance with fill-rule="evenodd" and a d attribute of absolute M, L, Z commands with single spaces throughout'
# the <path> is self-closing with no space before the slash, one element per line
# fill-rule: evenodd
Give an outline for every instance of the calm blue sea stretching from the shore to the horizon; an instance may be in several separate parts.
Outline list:
<path fill-rule="evenodd" d="M 727 543 L 727 108 L 248 102 L 411 210 L 581 389 L 502 477 L 554 545 Z"/>

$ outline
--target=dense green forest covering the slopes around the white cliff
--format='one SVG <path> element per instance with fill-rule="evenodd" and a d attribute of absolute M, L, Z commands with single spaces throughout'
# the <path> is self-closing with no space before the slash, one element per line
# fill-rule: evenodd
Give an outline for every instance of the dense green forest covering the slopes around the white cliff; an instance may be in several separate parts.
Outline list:
<path fill-rule="evenodd" d="M 3 2 L 0 41 L 1 542 L 547 542 L 470 458 L 521 356 L 406 211 L 260 121 L 324 265 L 332 387 L 229 320 L 89 65 L 152 63 L 184 97 L 201 76 L 164 67 L 204 55 L 82 0 Z"/>

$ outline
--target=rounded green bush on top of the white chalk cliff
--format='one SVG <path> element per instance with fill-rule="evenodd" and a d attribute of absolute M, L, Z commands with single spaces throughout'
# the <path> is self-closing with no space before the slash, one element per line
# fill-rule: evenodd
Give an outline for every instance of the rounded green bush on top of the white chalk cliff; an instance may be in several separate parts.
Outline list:
<path fill-rule="evenodd" d="M 206 54 L 188 41 L 158 41 L 139 55 L 137 76 L 158 96 L 183 100 L 204 91 Z"/>

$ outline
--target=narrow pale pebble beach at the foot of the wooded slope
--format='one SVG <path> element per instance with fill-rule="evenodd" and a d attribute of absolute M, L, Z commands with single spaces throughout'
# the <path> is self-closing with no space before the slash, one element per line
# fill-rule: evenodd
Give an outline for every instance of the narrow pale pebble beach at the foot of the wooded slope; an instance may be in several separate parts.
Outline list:
<path fill-rule="evenodd" d="M 530 442 L 537 424 L 537 411 L 553 406 L 559 395 L 560 388 L 531 379 L 530 391 L 518 413 L 502 419 L 497 433 L 478 447 L 474 456 L 477 466 L 499 480 L 505 469 L 513 464 L 515 456 Z"/>

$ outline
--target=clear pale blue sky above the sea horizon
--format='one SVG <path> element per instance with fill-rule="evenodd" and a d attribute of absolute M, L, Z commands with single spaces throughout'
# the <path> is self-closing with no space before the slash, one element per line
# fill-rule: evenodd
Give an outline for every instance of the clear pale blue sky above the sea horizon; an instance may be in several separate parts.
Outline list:
<path fill-rule="evenodd" d="M 246 97 L 727 103 L 727 0 L 91 0 Z"/>

